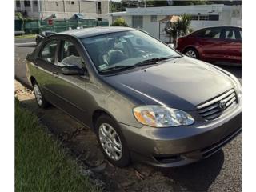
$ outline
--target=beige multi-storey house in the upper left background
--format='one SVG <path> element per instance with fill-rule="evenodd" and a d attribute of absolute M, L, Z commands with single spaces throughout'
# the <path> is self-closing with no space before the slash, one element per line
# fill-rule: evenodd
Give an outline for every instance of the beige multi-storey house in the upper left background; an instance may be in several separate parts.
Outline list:
<path fill-rule="evenodd" d="M 15 11 L 30 18 L 71 18 L 81 13 L 84 18 L 108 19 L 109 1 L 100 0 L 16 0 Z"/>

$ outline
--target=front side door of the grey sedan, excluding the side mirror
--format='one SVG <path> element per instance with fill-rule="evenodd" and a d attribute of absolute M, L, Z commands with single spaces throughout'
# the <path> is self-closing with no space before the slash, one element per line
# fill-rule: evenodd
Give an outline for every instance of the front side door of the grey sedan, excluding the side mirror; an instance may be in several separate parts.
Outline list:
<path fill-rule="evenodd" d="M 63 66 L 78 66 L 85 74 L 62 74 Z M 58 100 L 55 101 L 55 105 L 85 124 L 86 119 L 90 119 L 86 104 L 86 82 L 89 81 L 86 71 L 86 64 L 78 53 L 76 43 L 71 39 L 62 39 L 58 47 L 58 74 L 55 76 L 57 80 L 52 87 Z"/>

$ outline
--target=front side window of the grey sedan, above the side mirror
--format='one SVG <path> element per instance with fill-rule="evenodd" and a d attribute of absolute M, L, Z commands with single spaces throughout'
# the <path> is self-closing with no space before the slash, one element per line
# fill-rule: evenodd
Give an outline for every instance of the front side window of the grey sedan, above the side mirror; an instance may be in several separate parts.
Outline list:
<path fill-rule="evenodd" d="M 78 66 L 80 69 L 86 68 L 78 50 L 72 42 L 63 41 L 58 66 Z"/>

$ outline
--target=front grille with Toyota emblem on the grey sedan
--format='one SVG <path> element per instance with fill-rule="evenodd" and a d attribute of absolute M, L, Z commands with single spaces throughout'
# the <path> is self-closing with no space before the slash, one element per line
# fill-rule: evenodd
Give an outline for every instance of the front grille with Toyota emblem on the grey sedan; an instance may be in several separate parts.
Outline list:
<path fill-rule="evenodd" d="M 237 103 L 234 89 L 227 90 L 225 93 L 218 95 L 197 106 L 198 113 L 206 120 L 218 118 L 224 111 L 230 109 Z"/>

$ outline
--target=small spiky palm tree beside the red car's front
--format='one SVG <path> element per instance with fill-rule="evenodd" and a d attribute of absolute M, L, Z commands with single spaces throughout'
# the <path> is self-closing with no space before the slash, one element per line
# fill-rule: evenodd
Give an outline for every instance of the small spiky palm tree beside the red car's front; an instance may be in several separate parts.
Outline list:
<path fill-rule="evenodd" d="M 192 30 L 190 28 L 191 16 L 189 14 L 183 14 L 178 22 L 168 22 L 166 24 L 166 33 L 170 34 L 170 38 L 173 38 L 173 43 L 176 45 L 177 38 L 189 34 Z"/>

